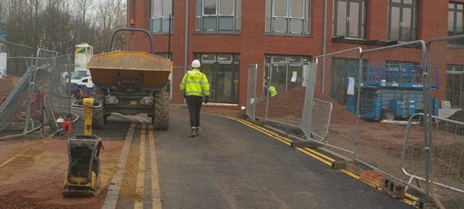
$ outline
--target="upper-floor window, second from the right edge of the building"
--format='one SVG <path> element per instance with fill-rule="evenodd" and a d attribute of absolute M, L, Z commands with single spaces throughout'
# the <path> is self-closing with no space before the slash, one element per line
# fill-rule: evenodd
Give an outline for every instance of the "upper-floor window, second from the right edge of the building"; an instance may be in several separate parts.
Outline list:
<path fill-rule="evenodd" d="M 388 40 L 417 39 L 417 0 L 389 0 Z"/>

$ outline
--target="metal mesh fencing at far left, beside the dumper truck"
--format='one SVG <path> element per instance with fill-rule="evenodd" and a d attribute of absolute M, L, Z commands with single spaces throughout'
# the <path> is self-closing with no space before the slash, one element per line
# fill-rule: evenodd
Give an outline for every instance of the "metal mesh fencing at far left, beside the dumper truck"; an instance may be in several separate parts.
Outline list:
<path fill-rule="evenodd" d="M 4 43 L 8 56 L 6 76 L 1 78 L 0 139 L 29 134 L 51 124 L 51 107 L 44 87 L 55 114 L 70 113 L 66 88 L 70 86 L 70 56 L 45 49 L 34 53 L 32 47 Z"/>

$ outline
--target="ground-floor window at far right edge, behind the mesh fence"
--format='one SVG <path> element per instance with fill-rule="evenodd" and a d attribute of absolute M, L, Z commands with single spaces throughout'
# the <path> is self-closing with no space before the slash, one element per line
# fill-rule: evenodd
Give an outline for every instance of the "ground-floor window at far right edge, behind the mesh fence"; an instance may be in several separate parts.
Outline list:
<path fill-rule="evenodd" d="M 464 65 L 447 65 L 446 99 L 451 107 L 463 108 Z"/>

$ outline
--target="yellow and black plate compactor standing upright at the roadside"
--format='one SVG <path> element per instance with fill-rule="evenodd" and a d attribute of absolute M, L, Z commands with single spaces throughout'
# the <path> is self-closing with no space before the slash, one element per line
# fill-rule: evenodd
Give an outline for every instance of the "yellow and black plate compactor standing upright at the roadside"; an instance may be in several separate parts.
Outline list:
<path fill-rule="evenodd" d="M 92 98 L 73 102 L 85 112 L 84 135 L 68 139 L 68 172 L 64 180 L 63 196 L 96 196 L 100 185 L 101 139 L 92 135 L 92 109 L 101 103 Z"/>

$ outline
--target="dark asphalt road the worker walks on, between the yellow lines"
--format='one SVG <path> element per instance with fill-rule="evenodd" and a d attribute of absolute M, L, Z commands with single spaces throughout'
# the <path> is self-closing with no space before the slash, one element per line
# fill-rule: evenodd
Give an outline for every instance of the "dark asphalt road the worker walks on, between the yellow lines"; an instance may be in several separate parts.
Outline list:
<path fill-rule="evenodd" d="M 412 208 L 221 116 L 202 114 L 197 137 L 188 137 L 188 112 L 179 110 L 167 131 L 151 130 L 146 116 L 114 115 L 95 133 L 124 138 L 128 121 L 136 125 L 117 208 Z"/>

